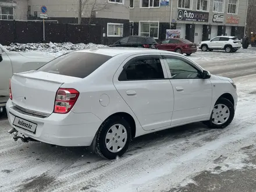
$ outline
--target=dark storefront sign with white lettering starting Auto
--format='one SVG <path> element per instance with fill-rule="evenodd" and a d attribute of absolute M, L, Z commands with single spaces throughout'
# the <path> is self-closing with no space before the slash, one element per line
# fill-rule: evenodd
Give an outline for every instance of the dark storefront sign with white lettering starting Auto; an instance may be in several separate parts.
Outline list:
<path fill-rule="evenodd" d="M 191 22 L 208 22 L 209 13 L 191 10 L 178 10 L 178 20 Z"/>

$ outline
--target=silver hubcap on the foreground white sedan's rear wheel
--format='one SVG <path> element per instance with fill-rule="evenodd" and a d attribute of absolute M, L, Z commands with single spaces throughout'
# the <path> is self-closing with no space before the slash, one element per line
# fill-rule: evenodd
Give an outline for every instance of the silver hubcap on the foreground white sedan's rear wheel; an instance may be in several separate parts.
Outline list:
<path fill-rule="evenodd" d="M 115 124 L 106 133 L 105 144 L 110 152 L 119 152 L 125 147 L 127 141 L 127 131 L 125 126 Z"/>

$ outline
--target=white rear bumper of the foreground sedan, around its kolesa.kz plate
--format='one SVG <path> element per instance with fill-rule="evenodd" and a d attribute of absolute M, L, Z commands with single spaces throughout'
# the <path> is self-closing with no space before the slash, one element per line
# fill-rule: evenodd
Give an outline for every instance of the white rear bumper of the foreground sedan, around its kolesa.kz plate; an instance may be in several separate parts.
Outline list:
<path fill-rule="evenodd" d="M 9 123 L 19 133 L 43 143 L 64 147 L 90 146 L 102 121 L 93 113 L 67 114 L 52 113 L 48 118 L 24 115 L 11 108 L 12 101 L 6 104 Z M 15 116 L 37 124 L 35 134 L 13 125 Z"/>

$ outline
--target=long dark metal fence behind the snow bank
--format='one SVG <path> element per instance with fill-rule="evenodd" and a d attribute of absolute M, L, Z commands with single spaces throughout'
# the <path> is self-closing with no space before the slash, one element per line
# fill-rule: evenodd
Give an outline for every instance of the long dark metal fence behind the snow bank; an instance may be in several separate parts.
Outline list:
<path fill-rule="evenodd" d="M 9 45 L 12 42 L 28 43 L 42 41 L 43 26 L 41 22 L 0 20 L 0 44 Z M 93 42 L 101 44 L 102 26 L 45 23 L 45 41 L 83 42 L 85 44 Z"/>

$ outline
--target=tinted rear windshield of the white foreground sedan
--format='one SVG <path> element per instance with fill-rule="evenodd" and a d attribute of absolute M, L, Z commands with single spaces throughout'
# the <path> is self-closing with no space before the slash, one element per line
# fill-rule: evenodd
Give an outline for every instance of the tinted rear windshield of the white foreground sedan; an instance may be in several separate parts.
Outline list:
<path fill-rule="evenodd" d="M 108 55 L 70 52 L 46 63 L 38 71 L 84 78 L 111 58 Z"/>

